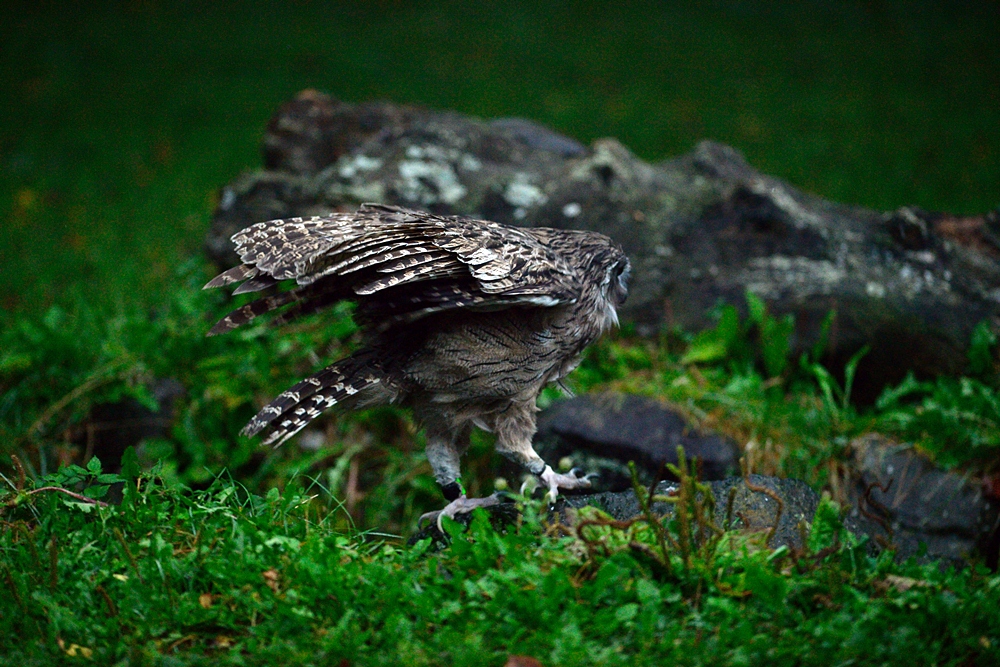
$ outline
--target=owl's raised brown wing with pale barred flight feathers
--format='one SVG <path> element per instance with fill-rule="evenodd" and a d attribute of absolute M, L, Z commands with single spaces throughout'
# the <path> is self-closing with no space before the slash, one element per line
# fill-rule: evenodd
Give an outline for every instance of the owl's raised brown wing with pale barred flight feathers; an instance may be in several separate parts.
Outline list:
<path fill-rule="evenodd" d="M 240 282 L 234 294 L 270 293 L 209 334 L 285 306 L 279 321 L 343 299 L 357 301 L 356 316 L 378 327 L 455 308 L 573 303 L 580 280 L 551 242 L 559 233 L 376 204 L 257 223 L 233 236 L 242 263 L 205 287 Z M 277 289 L 292 280 L 293 288 Z"/>

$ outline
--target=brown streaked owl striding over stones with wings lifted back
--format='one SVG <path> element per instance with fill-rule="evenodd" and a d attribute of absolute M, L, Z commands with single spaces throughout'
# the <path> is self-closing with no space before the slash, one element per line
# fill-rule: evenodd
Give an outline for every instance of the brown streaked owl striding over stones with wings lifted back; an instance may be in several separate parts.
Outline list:
<path fill-rule="evenodd" d="M 427 459 L 450 501 L 441 518 L 498 502 L 468 498 L 460 459 L 473 427 L 496 449 L 560 489 L 588 488 L 556 473 L 532 447 L 536 400 L 618 324 L 629 260 L 596 232 L 519 228 L 377 204 L 353 213 L 272 220 L 232 237 L 242 261 L 205 287 L 241 283 L 261 297 L 209 335 L 266 313 L 287 322 L 342 300 L 356 302 L 364 344 L 296 383 L 243 429 L 280 445 L 333 406 L 395 404 L 426 432 Z M 422 517 L 423 519 L 423 517 Z"/>

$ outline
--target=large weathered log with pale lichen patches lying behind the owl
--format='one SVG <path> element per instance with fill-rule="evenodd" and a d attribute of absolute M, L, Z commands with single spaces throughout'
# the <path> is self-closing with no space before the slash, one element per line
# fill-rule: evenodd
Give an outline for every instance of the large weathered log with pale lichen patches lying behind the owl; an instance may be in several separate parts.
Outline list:
<path fill-rule="evenodd" d="M 245 225 L 366 201 L 599 230 L 632 259 L 621 315 L 640 334 L 700 330 L 719 301 L 743 309 L 750 290 L 772 313 L 795 315 L 799 352 L 836 310 L 825 361 L 842 367 L 871 346 L 854 384 L 860 400 L 911 369 L 961 371 L 973 327 L 1000 329 L 995 212 L 883 214 L 800 192 L 709 141 L 649 164 L 613 139 L 584 148 L 523 119 L 314 91 L 279 109 L 264 146 L 267 170 L 223 189 L 207 242 L 221 265 L 235 262 L 228 238 Z"/>

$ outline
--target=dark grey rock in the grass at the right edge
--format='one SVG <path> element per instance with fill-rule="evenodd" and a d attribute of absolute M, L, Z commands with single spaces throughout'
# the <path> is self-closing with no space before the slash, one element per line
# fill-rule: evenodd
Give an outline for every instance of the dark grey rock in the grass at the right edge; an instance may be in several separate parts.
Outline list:
<path fill-rule="evenodd" d="M 899 558 L 996 561 L 1000 503 L 983 484 L 940 470 L 910 445 L 880 435 L 859 438 L 851 449 L 851 512 L 883 546 Z"/>

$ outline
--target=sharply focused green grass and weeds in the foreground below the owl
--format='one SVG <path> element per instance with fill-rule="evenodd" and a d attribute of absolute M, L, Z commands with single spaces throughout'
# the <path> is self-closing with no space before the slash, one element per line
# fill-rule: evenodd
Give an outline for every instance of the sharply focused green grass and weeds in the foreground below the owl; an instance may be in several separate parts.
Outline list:
<path fill-rule="evenodd" d="M 115 481 L 98 468 L 48 481 Z M 505 533 L 485 517 L 453 525 L 431 552 L 333 528 L 341 508 L 316 488 L 262 498 L 225 479 L 189 492 L 129 476 L 109 507 L 28 490 L 0 496 L 0 664 L 1000 659 L 1000 577 L 870 557 L 829 503 L 804 551 L 729 532 L 664 561 L 648 530 L 554 537 L 532 505 Z"/>

